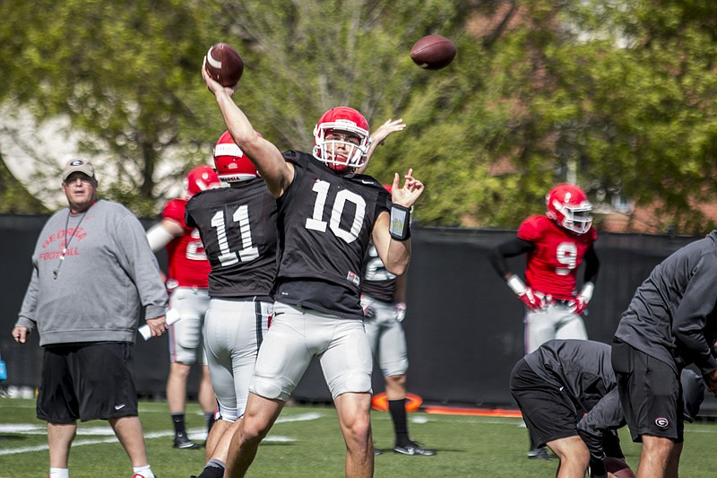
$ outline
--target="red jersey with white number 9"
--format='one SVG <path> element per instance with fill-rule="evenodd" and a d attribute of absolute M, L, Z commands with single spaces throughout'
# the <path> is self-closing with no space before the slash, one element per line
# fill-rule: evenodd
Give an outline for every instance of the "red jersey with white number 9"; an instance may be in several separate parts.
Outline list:
<path fill-rule="evenodd" d="M 531 216 L 518 229 L 518 238 L 535 247 L 528 254 L 525 282 L 534 291 L 550 294 L 555 299 L 573 299 L 577 269 L 585 251 L 598 239 L 595 228 L 575 234 L 546 216 Z"/>

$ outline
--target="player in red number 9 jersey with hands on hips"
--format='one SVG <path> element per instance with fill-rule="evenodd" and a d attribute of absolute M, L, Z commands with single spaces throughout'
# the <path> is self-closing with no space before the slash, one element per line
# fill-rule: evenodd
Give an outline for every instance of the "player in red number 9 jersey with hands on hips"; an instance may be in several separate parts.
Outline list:
<path fill-rule="evenodd" d="M 552 339 L 588 338 L 581 315 L 592 299 L 600 263 L 593 243 L 592 204 L 583 189 L 559 184 L 545 197 L 546 214 L 530 216 L 514 239 L 492 249 L 488 259 L 508 287 L 525 304 L 525 353 Z M 506 259 L 527 254 L 525 282 Z M 576 277 L 585 263 L 583 287 Z M 531 458 L 549 458 L 545 449 L 531 446 Z"/>

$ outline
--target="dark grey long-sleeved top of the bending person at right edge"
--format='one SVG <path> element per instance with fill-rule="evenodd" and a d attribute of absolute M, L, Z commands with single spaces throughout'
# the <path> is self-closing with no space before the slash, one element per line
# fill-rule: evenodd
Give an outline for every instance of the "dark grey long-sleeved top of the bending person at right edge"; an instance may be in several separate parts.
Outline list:
<path fill-rule="evenodd" d="M 695 363 L 717 369 L 712 345 L 717 329 L 717 230 L 657 265 L 635 292 L 615 337 L 675 372 Z"/>

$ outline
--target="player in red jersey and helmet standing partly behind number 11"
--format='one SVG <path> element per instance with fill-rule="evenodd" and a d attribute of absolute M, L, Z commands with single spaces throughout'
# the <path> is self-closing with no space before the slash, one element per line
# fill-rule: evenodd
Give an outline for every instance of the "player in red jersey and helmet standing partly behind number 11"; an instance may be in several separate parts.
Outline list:
<path fill-rule="evenodd" d="M 186 435 L 185 406 L 186 378 L 196 360 L 196 352 L 203 351 L 200 341 L 204 314 L 209 307 L 209 284 L 211 270 L 204 253 L 199 231 L 185 223 L 187 200 L 200 191 L 219 184 L 217 173 L 210 166 L 197 166 L 185 179 L 185 197 L 172 199 L 162 211 L 162 221 L 147 231 L 147 239 L 153 252 L 167 248 L 168 278 L 170 291 L 169 309 L 176 309 L 179 320 L 169 327 L 169 360 L 167 379 L 167 403 L 175 427 L 174 448 L 199 448 Z M 202 406 L 207 427 L 217 403 L 209 378 L 206 355 L 202 352 L 203 373 L 199 387 L 199 404 Z"/>

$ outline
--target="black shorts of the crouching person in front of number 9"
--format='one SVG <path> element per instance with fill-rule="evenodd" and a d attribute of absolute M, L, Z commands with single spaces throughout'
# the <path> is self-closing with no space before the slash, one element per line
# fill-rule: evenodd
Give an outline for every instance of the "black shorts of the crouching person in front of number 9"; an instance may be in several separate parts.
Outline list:
<path fill-rule="evenodd" d="M 570 397 L 560 387 L 540 378 L 523 359 L 511 372 L 510 391 L 537 447 L 577 436 L 578 416 Z"/>

